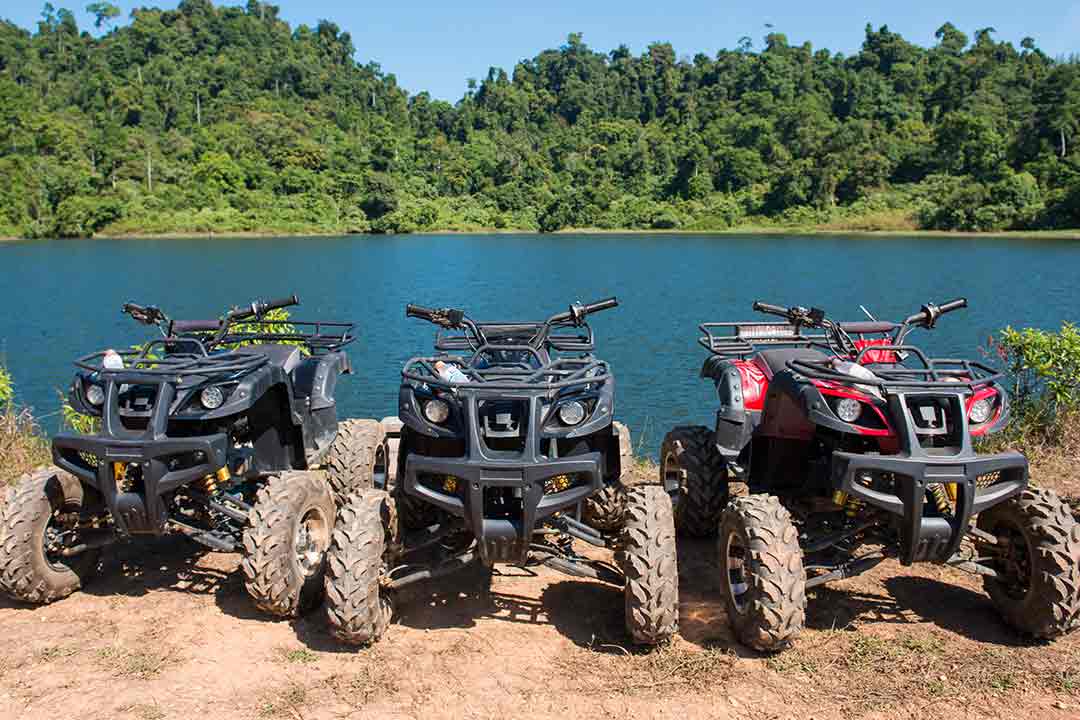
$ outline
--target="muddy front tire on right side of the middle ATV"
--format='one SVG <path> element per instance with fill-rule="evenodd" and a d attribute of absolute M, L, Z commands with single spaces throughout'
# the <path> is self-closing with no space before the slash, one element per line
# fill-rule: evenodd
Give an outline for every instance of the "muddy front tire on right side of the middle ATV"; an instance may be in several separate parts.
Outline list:
<path fill-rule="evenodd" d="M 616 562 L 626 578 L 626 630 L 654 646 L 678 631 L 678 559 L 671 498 L 649 485 L 626 491 L 625 522 Z"/>

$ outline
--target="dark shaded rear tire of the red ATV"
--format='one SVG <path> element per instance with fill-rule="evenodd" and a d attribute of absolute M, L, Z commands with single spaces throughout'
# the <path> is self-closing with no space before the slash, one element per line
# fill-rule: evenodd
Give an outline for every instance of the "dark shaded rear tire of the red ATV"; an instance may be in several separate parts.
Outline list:
<path fill-rule="evenodd" d="M 660 481 L 674 492 L 675 527 L 694 538 L 716 533 L 728 504 L 728 464 L 714 433 L 702 425 L 675 427 L 660 446 Z"/>

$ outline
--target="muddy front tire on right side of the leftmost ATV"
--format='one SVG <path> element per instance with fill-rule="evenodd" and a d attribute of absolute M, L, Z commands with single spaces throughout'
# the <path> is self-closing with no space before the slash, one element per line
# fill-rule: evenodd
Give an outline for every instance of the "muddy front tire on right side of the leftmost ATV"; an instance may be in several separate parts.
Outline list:
<path fill-rule="evenodd" d="M 334 493 L 320 471 L 286 471 L 259 488 L 241 568 L 260 610 L 296 617 L 319 604 L 335 513 Z"/>

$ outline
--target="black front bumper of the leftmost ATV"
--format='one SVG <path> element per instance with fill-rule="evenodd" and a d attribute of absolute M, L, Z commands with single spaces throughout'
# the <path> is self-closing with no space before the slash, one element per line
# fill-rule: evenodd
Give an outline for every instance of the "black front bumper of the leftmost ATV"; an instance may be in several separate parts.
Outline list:
<path fill-rule="evenodd" d="M 57 435 L 53 461 L 102 493 L 121 534 L 162 534 L 163 495 L 226 465 L 228 437 L 120 438 Z"/>

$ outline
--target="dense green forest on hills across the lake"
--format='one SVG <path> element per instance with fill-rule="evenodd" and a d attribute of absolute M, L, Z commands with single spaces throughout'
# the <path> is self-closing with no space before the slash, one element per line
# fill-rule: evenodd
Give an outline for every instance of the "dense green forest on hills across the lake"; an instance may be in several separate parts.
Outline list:
<path fill-rule="evenodd" d="M 1080 228 L 1080 60 L 989 27 L 850 56 L 573 33 L 450 104 L 256 0 L 87 10 L 0 21 L 0 235 Z"/>

